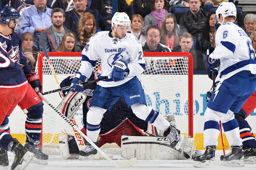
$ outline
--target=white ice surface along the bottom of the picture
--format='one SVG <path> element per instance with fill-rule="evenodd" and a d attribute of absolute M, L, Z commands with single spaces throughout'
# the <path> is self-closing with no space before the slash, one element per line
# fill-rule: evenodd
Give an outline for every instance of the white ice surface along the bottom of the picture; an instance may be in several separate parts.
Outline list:
<path fill-rule="evenodd" d="M 229 153 L 230 151 L 226 151 L 226 153 Z M 128 168 L 122 168 L 122 169 L 129 169 L 129 170 L 158 170 L 158 169 L 184 169 L 184 170 L 190 170 L 190 169 L 216 169 L 216 170 L 225 170 L 225 169 L 233 169 L 233 170 L 254 170 L 256 169 L 256 164 L 245 164 L 243 167 L 228 167 L 221 165 L 220 161 L 220 155 L 222 155 L 222 151 L 216 151 L 216 157 L 215 161 L 213 162 L 212 168 L 195 168 L 193 167 L 193 160 L 138 160 L 138 163 L 128 167 Z M 113 157 L 115 162 L 122 161 L 122 157 L 120 155 L 114 155 Z M 123 159 L 125 160 L 125 159 Z M 10 165 L 8 166 L 8 169 L 11 168 L 11 164 L 13 161 L 12 154 L 9 154 L 9 161 Z M 0 167 L 0 169 L 3 169 L 3 167 Z M 105 169 L 121 169 L 116 168 L 113 166 L 113 164 L 107 160 L 64 160 L 60 156 L 49 156 L 48 165 L 38 165 L 30 163 L 26 170 L 105 170 Z"/>

